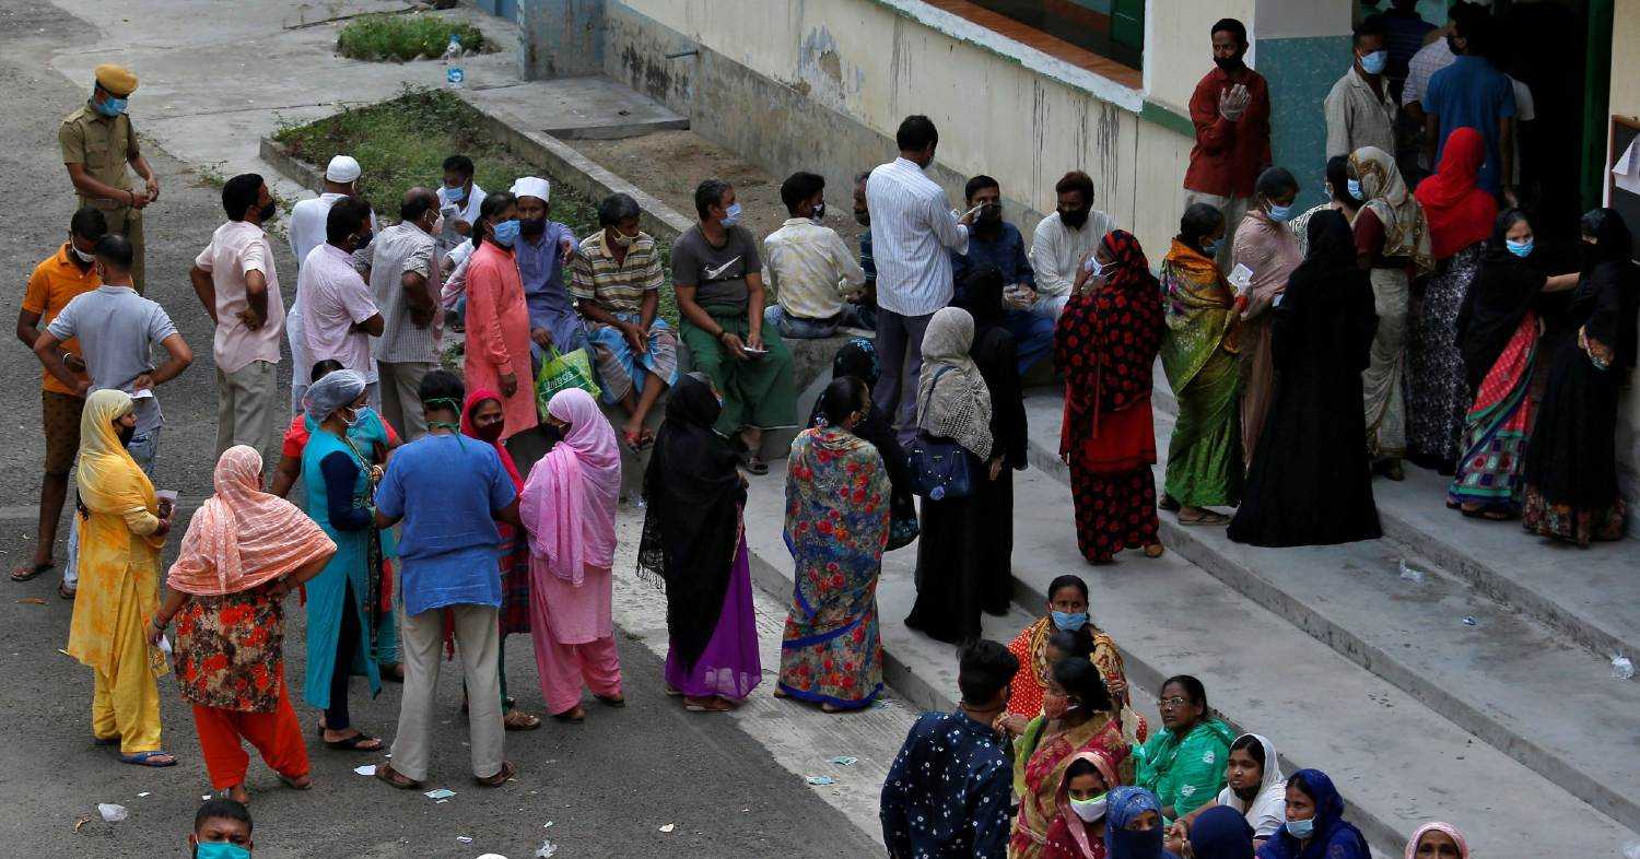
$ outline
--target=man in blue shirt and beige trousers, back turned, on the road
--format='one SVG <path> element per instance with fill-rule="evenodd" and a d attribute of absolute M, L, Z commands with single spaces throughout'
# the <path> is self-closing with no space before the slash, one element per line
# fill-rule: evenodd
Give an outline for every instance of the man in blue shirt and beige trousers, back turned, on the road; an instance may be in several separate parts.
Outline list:
<path fill-rule="evenodd" d="M 518 495 L 495 448 L 461 434 L 461 379 L 433 370 L 421 379 L 418 393 L 426 434 L 394 452 L 376 490 L 376 525 L 403 521 L 399 587 L 405 667 L 392 762 L 379 766 L 376 777 L 407 790 L 426 780 L 428 726 L 444 639 L 441 610 L 448 608 L 467 682 L 472 775 L 482 787 L 500 787 L 518 767 L 502 757 L 502 538 L 495 521 L 520 526 Z"/>

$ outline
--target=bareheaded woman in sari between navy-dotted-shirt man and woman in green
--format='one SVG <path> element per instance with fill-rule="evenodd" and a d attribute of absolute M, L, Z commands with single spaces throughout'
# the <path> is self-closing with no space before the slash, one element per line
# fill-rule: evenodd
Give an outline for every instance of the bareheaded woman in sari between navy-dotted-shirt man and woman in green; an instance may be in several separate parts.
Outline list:
<path fill-rule="evenodd" d="M 1009 859 L 1041 857 L 1048 828 L 1059 818 L 1064 772 L 1079 752 L 1102 752 L 1115 762 L 1123 782 L 1132 779 L 1115 707 L 1099 669 L 1087 659 L 1069 657 L 1053 666 L 1041 715 L 1014 741 L 1014 793 L 1020 798 L 1020 813 L 1009 839 Z"/>

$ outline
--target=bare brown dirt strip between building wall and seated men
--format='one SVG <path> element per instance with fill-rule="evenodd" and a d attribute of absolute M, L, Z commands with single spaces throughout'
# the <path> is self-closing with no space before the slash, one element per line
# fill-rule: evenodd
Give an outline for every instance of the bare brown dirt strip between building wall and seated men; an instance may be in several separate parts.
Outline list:
<path fill-rule="evenodd" d="M 741 223 L 751 234 L 763 238 L 779 230 L 786 221 L 786 205 L 781 203 L 781 179 L 746 164 L 735 152 L 717 146 L 694 131 L 656 131 L 641 138 L 618 141 L 564 141 L 581 154 L 602 164 L 633 185 L 659 197 L 684 216 L 695 215 L 695 185 L 704 179 L 718 177 L 735 185 L 745 215 Z M 856 246 L 863 231 L 854 223 L 854 189 L 827 187 L 825 223 L 843 236 L 850 248 Z"/>

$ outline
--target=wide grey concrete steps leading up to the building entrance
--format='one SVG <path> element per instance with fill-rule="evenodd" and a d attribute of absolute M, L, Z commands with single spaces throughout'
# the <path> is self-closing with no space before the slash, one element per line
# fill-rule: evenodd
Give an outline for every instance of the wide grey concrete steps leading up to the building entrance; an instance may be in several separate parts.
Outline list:
<path fill-rule="evenodd" d="M 1159 375 L 1159 370 L 1158 370 Z M 810 385 L 812 402 L 817 385 Z M 807 408 L 807 403 L 804 403 Z M 1445 510 L 1442 480 L 1376 482 L 1387 536 L 1351 546 L 1256 549 L 1163 513 L 1169 552 L 1091 567 L 1076 551 L 1061 400 L 1027 397 L 1032 469 L 1015 474 L 1015 610 L 986 618 L 1012 638 L 1063 572 L 1092 587 L 1092 613 L 1122 648 L 1151 723 L 1163 677 L 1196 674 L 1237 728 L 1269 736 L 1284 766 L 1338 782 L 1350 818 L 1396 856 L 1414 828 L 1448 820 L 1478 854 L 1619 856 L 1640 826 L 1640 685 L 1610 677 L 1610 651 L 1640 641 L 1640 552 L 1543 544 L 1519 525 Z M 1156 392 L 1158 449 L 1174 402 Z M 805 411 L 807 413 L 807 411 Z M 784 464 L 754 479 L 753 575 L 787 597 Z M 1158 485 L 1164 464 L 1156 467 Z M 1405 580 L 1399 566 L 1424 574 Z M 915 544 L 884 559 L 889 684 L 928 708 L 954 702 L 953 649 L 909 631 Z M 1473 618 L 1468 625 L 1465 618 Z"/>

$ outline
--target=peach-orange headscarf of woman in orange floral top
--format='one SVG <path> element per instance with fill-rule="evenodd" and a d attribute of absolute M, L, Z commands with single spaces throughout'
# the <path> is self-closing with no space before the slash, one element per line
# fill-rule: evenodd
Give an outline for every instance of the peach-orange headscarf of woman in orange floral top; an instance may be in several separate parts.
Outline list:
<path fill-rule="evenodd" d="M 336 544 L 294 503 L 262 492 L 262 456 L 244 444 L 216 461 L 216 493 L 200 505 L 166 584 L 197 597 L 239 593 L 295 572 Z"/>

